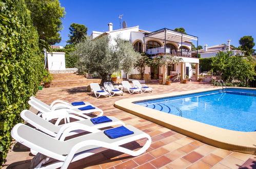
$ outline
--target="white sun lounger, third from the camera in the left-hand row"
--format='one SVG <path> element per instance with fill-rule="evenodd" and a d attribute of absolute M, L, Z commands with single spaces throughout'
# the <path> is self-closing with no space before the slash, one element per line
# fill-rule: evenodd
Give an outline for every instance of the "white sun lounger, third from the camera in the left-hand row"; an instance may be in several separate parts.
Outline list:
<path fill-rule="evenodd" d="M 91 109 L 91 110 L 79 110 L 79 109 L 47 109 L 46 107 L 43 107 L 41 104 L 38 104 L 37 102 L 33 101 L 33 100 L 29 100 L 28 103 L 35 108 L 36 110 L 40 111 L 40 113 L 38 113 L 37 115 L 42 115 L 42 118 L 44 118 L 45 120 L 52 120 L 52 119 L 57 119 L 63 116 L 67 116 L 67 113 L 69 114 L 73 114 L 73 115 L 80 115 L 84 118 L 91 118 L 88 115 L 94 113 L 94 112 L 100 112 L 100 115 L 98 116 L 102 116 L 103 115 L 103 111 L 99 108 L 95 109 Z M 66 118 L 67 121 L 69 122 L 69 118 Z"/>

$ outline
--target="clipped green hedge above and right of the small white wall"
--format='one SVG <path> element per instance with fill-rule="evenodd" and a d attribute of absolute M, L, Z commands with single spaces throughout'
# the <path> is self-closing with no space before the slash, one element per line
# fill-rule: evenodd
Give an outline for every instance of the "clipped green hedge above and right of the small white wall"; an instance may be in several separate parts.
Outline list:
<path fill-rule="evenodd" d="M 76 68 L 76 58 L 70 56 L 70 52 L 73 52 L 75 49 L 53 49 L 53 52 L 65 52 L 65 61 L 66 61 L 66 68 Z"/>

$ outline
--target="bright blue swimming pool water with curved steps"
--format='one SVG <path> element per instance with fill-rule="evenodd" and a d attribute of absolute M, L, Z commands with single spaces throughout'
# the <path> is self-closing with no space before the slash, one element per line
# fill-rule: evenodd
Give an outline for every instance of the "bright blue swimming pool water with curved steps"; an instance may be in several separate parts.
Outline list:
<path fill-rule="evenodd" d="M 223 129 L 256 131 L 256 90 L 229 88 L 134 103 Z"/>

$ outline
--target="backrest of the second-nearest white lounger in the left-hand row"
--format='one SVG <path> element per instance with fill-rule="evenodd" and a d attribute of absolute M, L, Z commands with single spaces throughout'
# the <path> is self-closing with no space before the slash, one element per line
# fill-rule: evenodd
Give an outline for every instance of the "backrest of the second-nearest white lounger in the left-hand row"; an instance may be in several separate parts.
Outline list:
<path fill-rule="evenodd" d="M 45 133 L 48 133 L 52 136 L 55 136 L 55 133 L 58 132 L 58 126 L 52 124 L 51 122 L 43 119 L 42 117 L 37 116 L 36 114 L 30 112 L 29 110 L 24 110 L 21 112 L 21 117 L 31 125 L 35 126 L 36 129 L 39 129 Z"/>

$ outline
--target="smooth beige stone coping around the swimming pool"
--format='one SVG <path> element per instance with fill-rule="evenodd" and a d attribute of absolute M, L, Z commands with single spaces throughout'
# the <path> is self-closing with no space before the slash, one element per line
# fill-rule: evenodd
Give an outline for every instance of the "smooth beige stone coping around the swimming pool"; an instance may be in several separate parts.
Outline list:
<path fill-rule="evenodd" d="M 234 89 L 252 89 L 254 88 L 239 88 L 227 87 Z M 220 90 L 219 88 L 190 90 L 183 92 L 172 92 L 168 94 L 156 94 L 143 97 L 134 97 L 118 100 L 114 103 L 114 107 L 124 110 L 128 113 L 142 117 L 159 125 L 162 125 L 175 132 L 184 134 L 204 143 L 220 147 L 221 149 L 231 150 L 235 152 L 256 154 L 256 132 L 238 132 L 227 129 L 222 129 L 213 125 L 190 120 L 187 118 L 175 116 L 165 112 L 153 110 L 143 107 L 142 105 L 134 104 L 133 102 L 144 101 L 150 99 L 158 99 L 163 97 L 186 95 L 192 93 L 200 93 L 207 91 Z M 146 113 L 145 113 L 146 112 Z"/>

